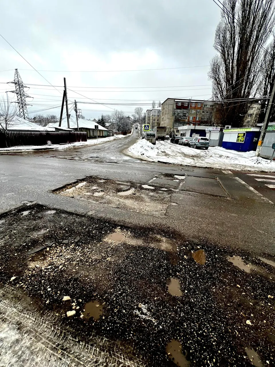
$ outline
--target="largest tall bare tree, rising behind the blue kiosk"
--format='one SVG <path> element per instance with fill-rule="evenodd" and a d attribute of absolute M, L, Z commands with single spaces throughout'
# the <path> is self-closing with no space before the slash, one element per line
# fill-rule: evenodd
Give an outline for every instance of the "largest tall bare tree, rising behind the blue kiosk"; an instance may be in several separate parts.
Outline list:
<path fill-rule="evenodd" d="M 263 45 L 274 28 L 274 0 L 224 0 L 216 29 L 210 62 L 213 99 L 218 101 L 221 125 L 242 126 L 248 105 L 242 99 L 255 97 L 263 60 Z M 235 101 L 233 101 L 235 99 Z M 230 100 L 230 101 L 228 101 Z M 215 117 L 217 119 L 217 117 Z"/>

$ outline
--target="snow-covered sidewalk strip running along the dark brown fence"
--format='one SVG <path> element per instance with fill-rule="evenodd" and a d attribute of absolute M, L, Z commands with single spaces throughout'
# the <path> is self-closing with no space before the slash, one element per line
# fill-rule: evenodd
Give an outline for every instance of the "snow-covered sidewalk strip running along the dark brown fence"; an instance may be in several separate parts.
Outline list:
<path fill-rule="evenodd" d="M 99 138 L 98 141 L 96 139 L 88 139 L 88 141 L 80 141 L 64 145 L 52 144 L 52 145 L 12 146 L 11 148 L 0 148 L 0 153 L 27 152 L 31 150 L 48 150 L 48 149 L 58 149 L 58 150 L 69 149 L 80 146 L 91 146 L 107 143 L 113 140 L 125 138 L 127 136 L 129 135 L 114 135 L 113 137 Z"/>

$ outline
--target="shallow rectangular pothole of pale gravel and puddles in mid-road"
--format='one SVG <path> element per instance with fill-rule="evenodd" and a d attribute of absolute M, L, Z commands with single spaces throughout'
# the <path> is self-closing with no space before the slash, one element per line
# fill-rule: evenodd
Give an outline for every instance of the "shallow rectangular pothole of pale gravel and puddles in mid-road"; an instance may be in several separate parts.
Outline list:
<path fill-rule="evenodd" d="M 153 186 L 133 182 L 102 180 L 88 177 L 84 182 L 72 183 L 53 192 L 92 203 L 124 208 L 143 214 L 165 215 L 169 205 L 169 190 L 154 190 Z"/>

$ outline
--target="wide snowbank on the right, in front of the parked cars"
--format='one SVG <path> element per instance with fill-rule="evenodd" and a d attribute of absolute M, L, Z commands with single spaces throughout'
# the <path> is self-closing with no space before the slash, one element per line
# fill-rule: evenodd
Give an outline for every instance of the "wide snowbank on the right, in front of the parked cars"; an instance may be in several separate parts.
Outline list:
<path fill-rule="evenodd" d="M 194 149 L 187 146 L 157 141 L 156 145 L 139 140 L 128 149 L 128 154 L 135 158 L 157 162 L 182 164 L 184 166 L 211 167 L 240 171 L 275 171 L 272 163 L 255 152 L 236 152 L 219 146 L 205 149 Z"/>

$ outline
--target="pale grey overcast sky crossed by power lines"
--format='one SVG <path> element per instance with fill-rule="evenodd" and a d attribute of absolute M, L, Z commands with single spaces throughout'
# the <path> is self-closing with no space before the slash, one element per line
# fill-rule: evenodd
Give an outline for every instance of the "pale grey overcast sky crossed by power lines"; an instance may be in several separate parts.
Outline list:
<path fill-rule="evenodd" d="M 61 70 L 40 73 L 54 86 L 62 86 L 66 77 L 73 90 L 68 91 L 69 103 L 140 103 L 145 111 L 153 99 L 211 97 L 207 73 L 220 20 L 220 8 L 212 0 L 13 0 L 1 3 L 1 13 L 0 33 L 34 68 Z M 33 97 L 27 99 L 33 105 L 30 116 L 61 105 L 63 88 L 56 91 L 1 38 L 0 53 L 2 83 L 12 81 L 18 68 L 25 84 L 45 85 L 26 89 Z M 203 67 L 81 72 L 189 66 Z M 13 88 L 1 84 L 1 96 Z M 15 100 L 14 94 L 9 96 Z M 129 115 L 134 109 L 84 103 L 78 108 L 86 118 L 113 108 Z M 60 108 L 41 113 L 59 115 Z"/>

